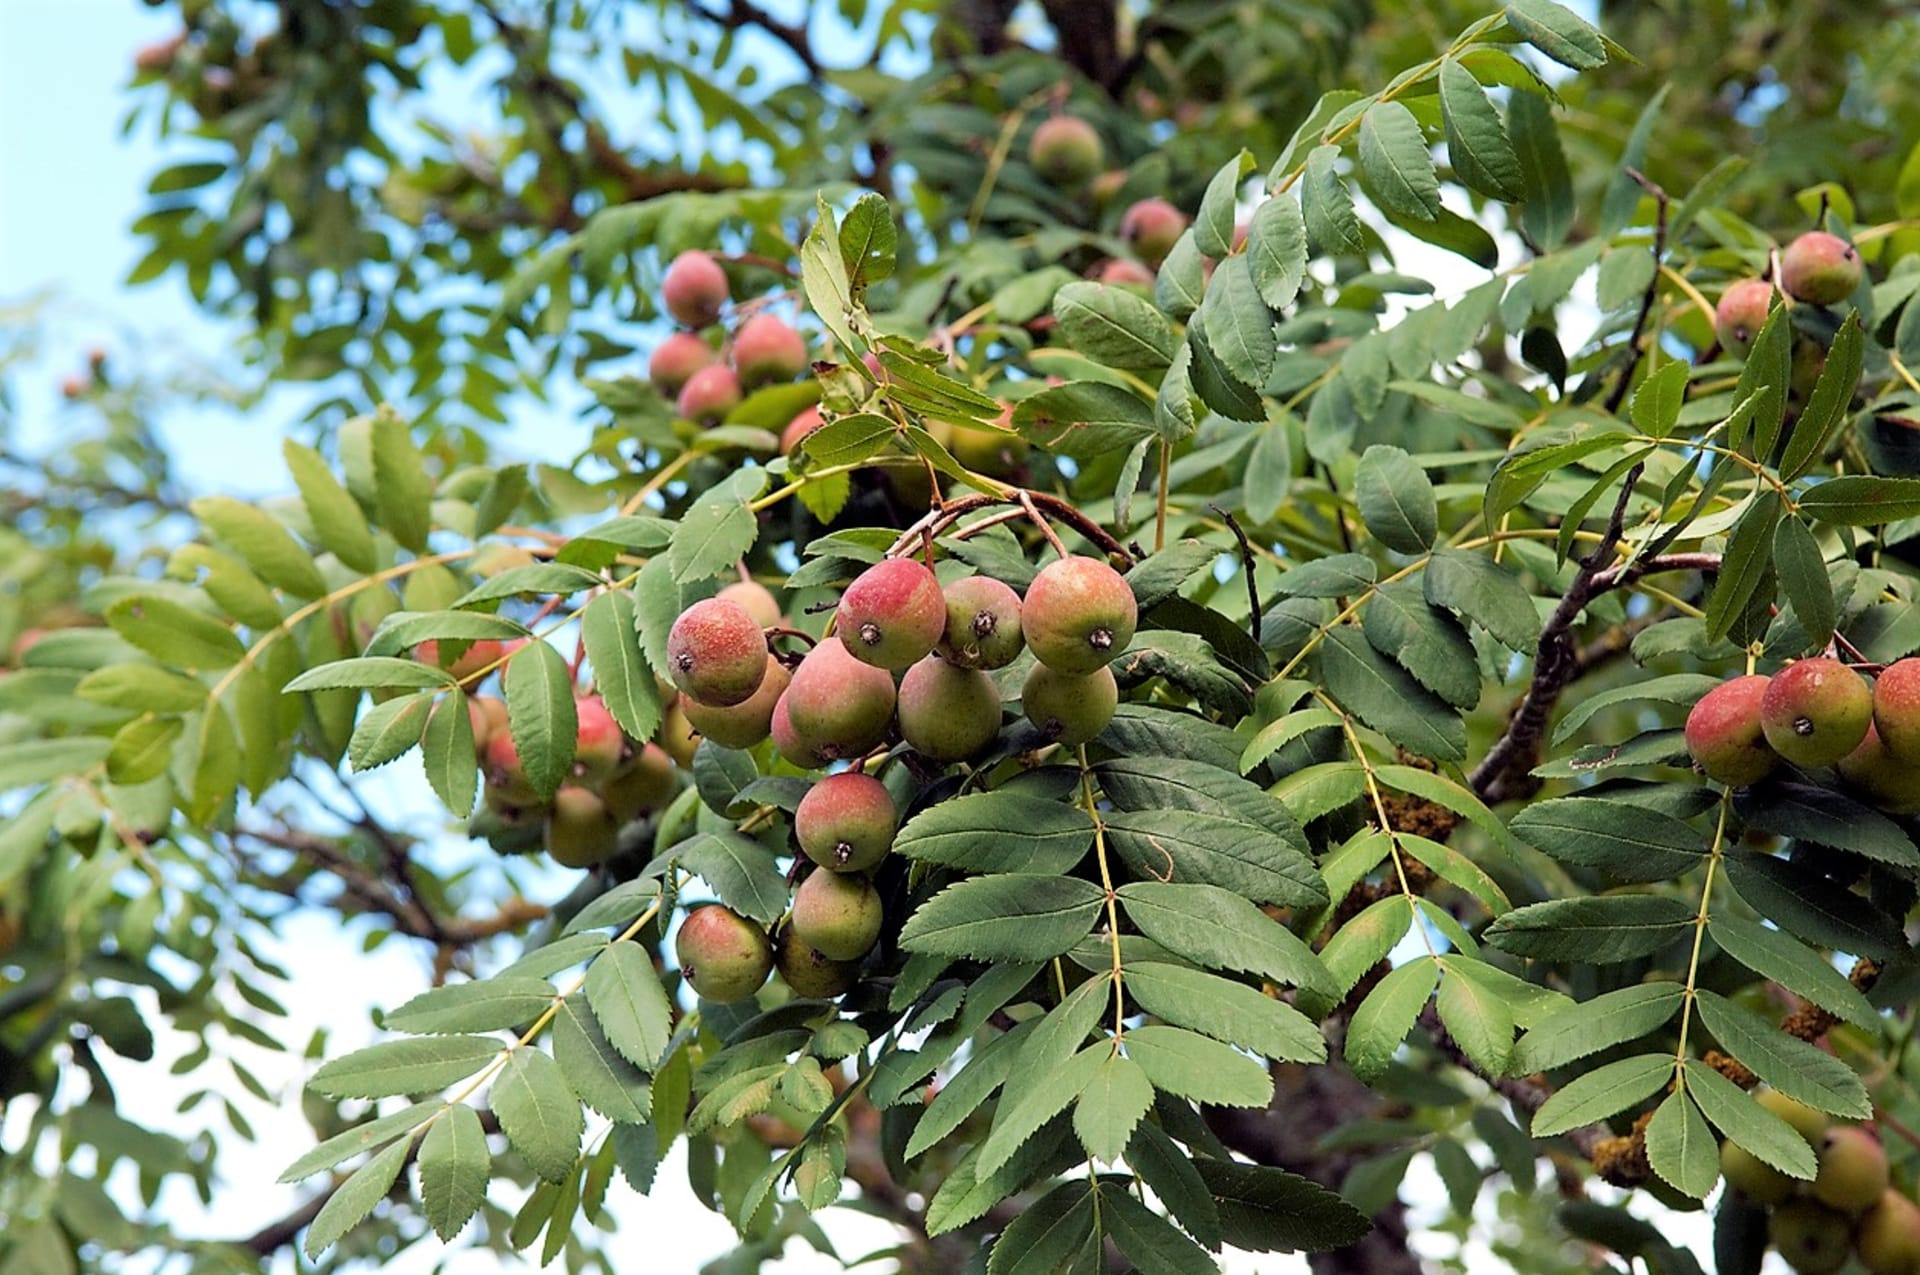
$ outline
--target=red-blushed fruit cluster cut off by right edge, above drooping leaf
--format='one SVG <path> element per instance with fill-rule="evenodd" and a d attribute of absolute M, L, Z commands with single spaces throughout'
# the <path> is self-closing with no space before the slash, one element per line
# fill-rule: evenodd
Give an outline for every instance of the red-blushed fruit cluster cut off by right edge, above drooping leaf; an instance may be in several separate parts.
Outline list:
<path fill-rule="evenodd" d="M 1688 712 L 1686 745 L 1728 787 L 1759 783 L 1782 760 L 1834 766 L 1870 805 L 1920 812 L 1920 659 L 1889 664 L 1872 686 L 1830 657 L 1722 682 Z"/>

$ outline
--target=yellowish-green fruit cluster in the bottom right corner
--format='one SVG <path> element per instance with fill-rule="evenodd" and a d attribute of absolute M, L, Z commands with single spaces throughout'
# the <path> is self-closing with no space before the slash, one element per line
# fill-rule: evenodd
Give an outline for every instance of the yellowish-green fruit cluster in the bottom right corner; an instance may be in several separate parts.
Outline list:
<path fill-rule="evenodd" d="M 1772 1089 L 1755 1098 L 1807 1139 L 1818 1164 L 1812 1181 L 1797 1181 L 1734 1143 L 1720 1144 L 1720 1173 L 1768 1210 L 1768 1242 L 1786 1263 L 1799 1275 L 1832 1275 L 1857 1256 L 1868 1275 L 1920 1275 L 1920 1206 L 1893 1187 L 1880 1139 Z"/>

